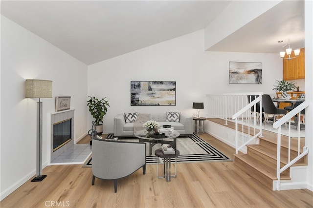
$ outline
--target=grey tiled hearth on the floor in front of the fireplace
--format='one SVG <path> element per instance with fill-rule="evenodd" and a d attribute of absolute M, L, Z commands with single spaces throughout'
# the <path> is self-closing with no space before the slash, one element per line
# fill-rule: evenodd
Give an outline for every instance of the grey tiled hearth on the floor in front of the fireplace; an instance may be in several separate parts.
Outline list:
<path fill-rule="evenodd" d="M 51 164 L 59 163 L 75 163 L 83 164 L 86 158 L 91 153 L 91 146 L 89 144 L 74 144 L 67 148 L 65 152 L 60 154 Z"/>

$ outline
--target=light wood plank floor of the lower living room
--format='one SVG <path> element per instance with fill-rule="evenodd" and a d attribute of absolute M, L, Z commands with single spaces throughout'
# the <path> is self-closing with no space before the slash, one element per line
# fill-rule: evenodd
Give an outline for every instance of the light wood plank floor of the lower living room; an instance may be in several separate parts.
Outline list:
<path fill-rule="evenodd" d="M 235 150 L 202 134 L 201 138 L 233 158 Z M 86 138 L 89 143 L 89 138 Z M 1 201 L 1 208 L 312 208 L 308 189 L 272 191 L 253 180 L 233 162 L 179 164 L 171 182 L 158 179 L 156 165 L 147 165 L 117 182 L 96 179 L 82 165 L 47 166 L 42 182 L 27 181 Z M 53 204 L 54 203 L 54 204 Z M 59 204 L 57 204 L 59 203 Z M 55 206 L 58 205 L 58 206 Z"/>

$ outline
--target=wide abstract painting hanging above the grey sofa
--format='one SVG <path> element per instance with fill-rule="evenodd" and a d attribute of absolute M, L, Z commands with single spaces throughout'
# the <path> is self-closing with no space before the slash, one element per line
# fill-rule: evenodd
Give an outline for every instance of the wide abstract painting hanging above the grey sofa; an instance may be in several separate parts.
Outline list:
<path fill-rule="evenodd" d="M 131 105 L 176 105 L 176 82 L 131 81 Z"/>

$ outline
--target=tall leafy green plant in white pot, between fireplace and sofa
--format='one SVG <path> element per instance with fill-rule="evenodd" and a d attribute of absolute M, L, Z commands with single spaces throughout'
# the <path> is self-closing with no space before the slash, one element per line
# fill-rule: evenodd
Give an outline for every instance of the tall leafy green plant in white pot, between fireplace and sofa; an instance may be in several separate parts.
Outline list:
<path fill-rule="evenodd" d="M 109 102 L 105 100 L 106 98 L 99 100 L 95 97 L 88 97 L 89 101 L 87 101 L 87 106 L 89 106 L 89 112 L 95 119 L 94 124 L 97 134 L 101 135 L 103 132 L 103 117 L 106 115 L 108 107 L 110 107 Z"/>

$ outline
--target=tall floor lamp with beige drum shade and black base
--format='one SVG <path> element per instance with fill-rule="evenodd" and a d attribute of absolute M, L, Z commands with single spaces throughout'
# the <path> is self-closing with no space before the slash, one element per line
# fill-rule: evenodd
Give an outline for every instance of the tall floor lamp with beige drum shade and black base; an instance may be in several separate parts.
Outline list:
<path fill-rule="evenodd" d="M 26 80 L 26 98 L 39 98 L 37 102 L 37 156 L 36 177 L 32 182 L 42 181 L 43 175 L 43 102 L 41 98 L 52 98 L 52 81 L 49 80 Z"/>

